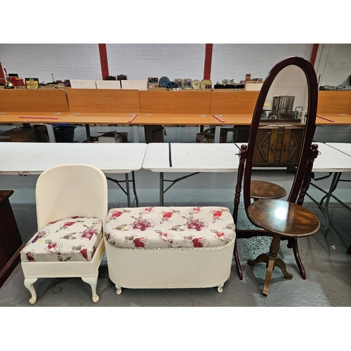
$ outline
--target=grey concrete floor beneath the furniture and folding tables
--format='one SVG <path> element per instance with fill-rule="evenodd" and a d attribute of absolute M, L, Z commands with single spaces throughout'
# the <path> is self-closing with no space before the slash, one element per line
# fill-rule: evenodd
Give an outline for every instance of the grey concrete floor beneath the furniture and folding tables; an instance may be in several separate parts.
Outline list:
<path fill-rule="evenodd" d="M 106 130 L 106 128 L 102 130 Z M 112 128 L 112 127 L 109 127 Z M 117 127 L 114 127 L 116 129 Z M 121 128 L 118 128 L 119 130 Z M 187 129 L 187 131 L 185 131 Z M 197 128 L 167 128 L 165 141 L 185 141 L 194 143 Z M 77 127 L 74 141 L 85 138 L 84 128 Z M 130 135 L 132 135 L 130 131 Z M 140 135 L 140 141 L 143 141 Z M 351 174 L 345 174 L 351 179 Z M 169 174 L 176 178 L 183 174 Z M 220 205 L 233 208 L 234 185 L 237 173 L 200 173 L 182 180 L 165 194 L 165 204 L 174 206 Z M 289 187 L 292 180 L 287 171 L 256 171 L 254 177 L 269 180 Z M 121 178 L 116 175 L 114 178 Z M 135 173 L 139 206 L 155 206 L 159 201 L 159 176 L 151 171 Z M 23 241 L 27 241 L 37 231 L 35 210 L 35 183 L 37 176 L 1 176 L 0 188 L 14 190 L 10 198 L 15 218 Z M 327 189 L 330 179 L 319 181 L 319 186 Z M 335 192 L 350 206 L 350 183 L 340 183 Z M 322 194 L 312 187 L 309 193 L 320 199 Z M 126 206 L 125 195 L 117 185 L 109 182 L 109 207 Z M 325 225 L 324 217 L 310 199 L 306 197 L 305 207 L 314 212 Z M 23 285 L 20 265 L 15 268 L 5 284 L 0 288 L 1 307 L 350 307 L 351 306 L 351 256 L 346 253 L 351 243 L 351 213 L 337 201 L 332 200 L 330 217 L 333 227 L 327 236 L 324 228 L 312 237 L 299 239 L 300 256 L 303 260 L 307 279 L 298 272 L 293 253 L 282 241 L 279 256 L 284 259 L 293 279 L 285 279 L 282 272 L 274 270 L 267 297 L 261 294 L 265 279 L 265 265 L 247 265 L 249 258 L 267 252 L 270 237 L 238 239 L 238 251 L 244 272 L 240 280 L 233 261 L 230 280 L 225 283 L 223 293 L 211 289 L 124 289 L 121 295 L 115 293 L 114 284 L 108 277 L 105 260 L 100 266 L 98 295 L 100 301 L 94 304 L 91 290 L 79 278 L 38 279 L 35 284 L 37 303 L 29 305 L 29 291 Z M 239 226 L 250 225 L 241 204 Z M 26 310 L 27 311 L 27 310 Z"/>

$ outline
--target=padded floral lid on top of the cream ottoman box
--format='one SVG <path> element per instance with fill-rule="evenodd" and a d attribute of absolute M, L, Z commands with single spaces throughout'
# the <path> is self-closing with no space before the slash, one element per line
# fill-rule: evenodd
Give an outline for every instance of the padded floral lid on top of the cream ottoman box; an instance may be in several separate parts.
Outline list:
<path fill-rule="evenodd" d="M 210 248 L 235 239 L 229 208 L 112 208 L 104 227 L 106 241 L 122 248 Z"/>

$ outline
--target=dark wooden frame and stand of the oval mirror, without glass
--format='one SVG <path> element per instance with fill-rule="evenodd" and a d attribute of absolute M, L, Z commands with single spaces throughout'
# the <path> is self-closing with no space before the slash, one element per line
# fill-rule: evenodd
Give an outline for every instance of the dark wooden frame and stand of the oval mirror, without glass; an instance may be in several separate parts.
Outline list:
<path fill-rule="evenodd" d="M 295 178 L 293 180 L 293 185 L 291 187 L 291 192 L 289 194 L 288 200 L 293 203 L 298 199 L 298 204 L 303 204 L 303 197 L 305 196 L 305 192 L 307 191 L 308 181 L 309 181 L 309 173 L 312 171 L 312 164 L 315 157 L 317 157 L 317 145 L 313 147 L 312 150 L 312 140 L 314 136 L 315 129 L 315 121 L 317 114 L 317 103 L 318 103 L 318 84 L 316 73 L 314 72 L 314 67 L 310 62 L 305 60 L 304 58 L 299 57 L 290 57 L 286 58 L 274 65 L 274 67 L 267 74 L 267 77 L 263 83 L 262 88 L 260 89 L 260 93 L 258 95 L 258 99 L 256 102 L 256 107 L 253 112 L 253 119 L 251 122 L 250 133 L 249 133 L 249 143 L 248 145 L 241 145 L 241 149 L 239 151 L 239 167 L 238 167 L 238 176 L 237 176 L 237 185 L 235 188 L 235 197 L 234 197 L 234 223 L 237 231 L 237 239 L 242 238 L 250 238 L 250 237 L 258 237 L 258 236 L 272 236 L 270 232 L 265 230 L 261 230 L 258 228 L 257 230 L 242 230 L 237 227 L 237 218 L 239 211 L 239 203 L 240 203 L 240 195 L 241 195 L 241 185 L 243 183 L 244 176 L 244 207 L 245 211 L 251 204 L 250 197 L 250 185 L 251 185 L 251 171 L 253 166 L 253 154 L 255 152 L 255 143 L 256 137 L 258 133 L 258 126 L 260 124 L 261 113 L 263 111 L 263 107 L 265 104 L 265 100 L 267 98 L 267 94 L 270 91 L 270 87 L 274 79 L 277 77 L 277 74 L 282 71 L 282 69 L 295 65 L 300 67 L 305 73 L 305 77 L 307 80 L 307 91 L 308 91 L 308 107 L 307 107 L 307 115 L 305 122 L 305 134 L 303 137 L 303 145 L 301 145 L 300 151 L 300 159 L 297 166 L 297 171 Z M 313 152 L 311 158 L 311 151 Z M 308 178 L 308 179 L 307 179 Z M 301 190 L 303 191 L 301 192 Z M 300 194 L 299 198 L 298 195 Z M 306 278 L 305 269 L 300 260 L 300 255 L 298 252 L 298 243 L 296 238 L 283 238 L 288 240 L 288 247 L 293 249 L 293 253 L 296 259 L 296 263 L 300 270 L 300 274 L 303 279 Z M 241 265 L 239 262 L 239 256 L 237 252 L 237 242 L 234 246 L 234 260 L 237 264 L 237 270 L 239 274 L 239 278 L 242 277 Z"/>

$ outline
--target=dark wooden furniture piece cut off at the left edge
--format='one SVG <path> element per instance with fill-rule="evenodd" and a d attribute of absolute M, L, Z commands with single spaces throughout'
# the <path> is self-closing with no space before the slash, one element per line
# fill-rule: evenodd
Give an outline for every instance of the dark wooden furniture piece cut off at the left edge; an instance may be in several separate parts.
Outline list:
<path fill-rule="evenodd" d="M 23 244 L 9 197 L 13 190 L 0 190 L 0 286 L 20 262 Z"/>

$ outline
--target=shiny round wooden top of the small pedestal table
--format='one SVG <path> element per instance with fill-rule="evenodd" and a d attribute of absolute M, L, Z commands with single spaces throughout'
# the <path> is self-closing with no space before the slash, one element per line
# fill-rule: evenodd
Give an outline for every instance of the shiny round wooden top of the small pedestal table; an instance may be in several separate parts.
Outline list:
<path fill-rule="evenodd" d="M 289 201 L 263 199 L 253 202 L 247 214 L 255 225 L 284 237 L 309 237 L 320 228 L 317 216 Z"/>

